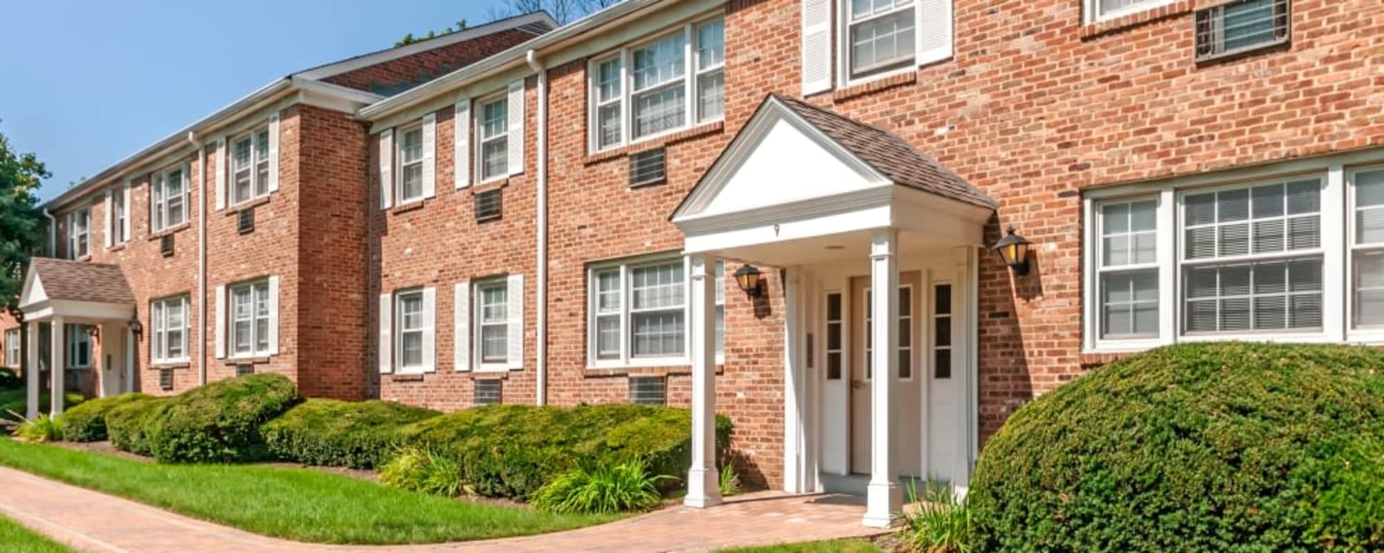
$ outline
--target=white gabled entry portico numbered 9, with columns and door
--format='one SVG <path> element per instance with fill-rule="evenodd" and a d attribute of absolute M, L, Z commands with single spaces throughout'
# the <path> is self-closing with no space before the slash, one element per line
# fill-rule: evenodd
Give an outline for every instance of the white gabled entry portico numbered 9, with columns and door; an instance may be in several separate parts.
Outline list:
<path fill-rule="evenodd" d="M 864 492 L 875 527 L 900 512 L 901 478 L 963 492 L 978 448 L 976 265 L 994 209 L 897 135 L 770 95 L 673 216 L 693 281 L 686 505 L 720 502 L 710 268 L 722 259 L 783 279 L 785 491 Z"/>

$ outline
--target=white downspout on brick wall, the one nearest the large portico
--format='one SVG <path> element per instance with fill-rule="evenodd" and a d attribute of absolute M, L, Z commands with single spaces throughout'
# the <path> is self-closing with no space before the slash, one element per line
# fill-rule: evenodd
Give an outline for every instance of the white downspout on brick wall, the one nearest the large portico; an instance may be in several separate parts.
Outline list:
<path fill-rule="evenodd" d="M 537 391 L 536 402 L 543 406 L 548 402 L 548 69 L 543 66 L 536 50 L 529 50 L 525 55 L 529 68 L 538 73 L 538 135 L 534 137 L 538 148 L 538 182 L 537 182 L 537 234 L 538 252 L 537 276 L 534 278 L 534 303 L 537 304 L 537 336 L 534 339 L 534 355 L 537 355 L 536 371 Z"/>

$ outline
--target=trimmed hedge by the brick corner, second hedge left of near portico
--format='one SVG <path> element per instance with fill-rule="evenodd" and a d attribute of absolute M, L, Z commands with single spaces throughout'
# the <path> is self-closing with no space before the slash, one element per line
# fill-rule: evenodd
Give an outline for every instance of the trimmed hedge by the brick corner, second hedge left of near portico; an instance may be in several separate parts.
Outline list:
<path fill-rule="evenodd" d="M 374 469 L 393 455 L 406 424 L 439 415 L 392 401 L 307 400 L 266 423 L 260 434 L 277 459 Z"/>

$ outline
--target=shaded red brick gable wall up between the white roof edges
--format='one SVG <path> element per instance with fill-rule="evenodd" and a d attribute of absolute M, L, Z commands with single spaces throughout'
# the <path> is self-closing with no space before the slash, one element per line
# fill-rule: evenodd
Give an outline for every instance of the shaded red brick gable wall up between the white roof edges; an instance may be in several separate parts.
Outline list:
<path fill-rule="evenodd" d="M 322 80 L 368 93 L 393 95 L 498 54 L 533 37 L 534 35 L 526 30 L 500 30 L 440 48 L 424 50 L 412 55 L 334 75 Z"/>

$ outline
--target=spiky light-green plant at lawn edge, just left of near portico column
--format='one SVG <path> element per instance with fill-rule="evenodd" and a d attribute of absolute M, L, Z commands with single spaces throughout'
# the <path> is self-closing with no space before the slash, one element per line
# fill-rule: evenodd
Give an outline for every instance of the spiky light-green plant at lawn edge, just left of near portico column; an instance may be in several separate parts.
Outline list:
<path fill-rule="evenodd" d="M 649 474 L 644 460 L 627 460 L 595 470 L 576 469 L 544 484 L 529 499 L 547 513 L 612 514 L 649 510 L 663 502 L 659 482 L 670 476 Z"/>

